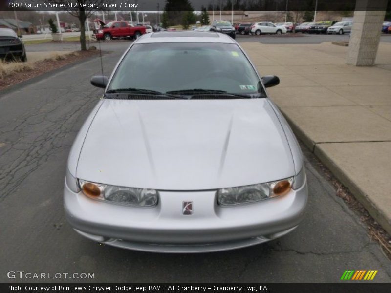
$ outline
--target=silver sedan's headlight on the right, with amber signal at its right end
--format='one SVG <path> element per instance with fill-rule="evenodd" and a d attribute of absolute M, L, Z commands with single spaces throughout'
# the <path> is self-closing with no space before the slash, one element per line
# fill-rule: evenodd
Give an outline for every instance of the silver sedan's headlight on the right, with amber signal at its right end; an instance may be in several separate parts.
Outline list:
<path fill-rule="evenodd" d="M 290 177 L 269 183 L 221 188 L 217 190 L 217 202 L 220 205 L 237 205 L 284 195 L 289 192 L 292 182 L 293 177 Z"/>

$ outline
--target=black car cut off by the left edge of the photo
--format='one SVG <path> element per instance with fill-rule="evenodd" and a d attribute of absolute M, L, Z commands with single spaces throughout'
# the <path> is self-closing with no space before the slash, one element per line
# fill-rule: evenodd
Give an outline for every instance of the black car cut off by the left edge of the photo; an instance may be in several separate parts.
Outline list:
<path fill-rule="evenodd" d="M 5 60 L 20 59 L 22 62 L 27 61 L 22 36 L 18 36 L 10 28 L 0 28 L 0 58 Z"/>

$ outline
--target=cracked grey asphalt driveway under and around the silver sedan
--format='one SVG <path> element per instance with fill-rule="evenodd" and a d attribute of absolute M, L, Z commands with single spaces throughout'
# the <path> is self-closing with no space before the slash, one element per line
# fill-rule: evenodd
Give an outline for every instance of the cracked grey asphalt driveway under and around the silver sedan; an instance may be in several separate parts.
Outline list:
<path fill-rule="evenodd" d="M 105 74 L 128 45 L 107 45 Z M 89 83 L 98 74 L 101 64 L 93 58 L 0 91 L 0 282 L 42 281 L 9 279 L 9 271 L 95 276 L 58 281 L 338 282 L 345 270 L 378 270 L 374 281 L 391 281 L 391 261 L 305 147 L 308 207 L 302 225 L 280 239 L 235 251 L 173 255 L 100 245 L 74 232 L 63 210 L 65 166 L 80 126 L 102 95 Z"/>

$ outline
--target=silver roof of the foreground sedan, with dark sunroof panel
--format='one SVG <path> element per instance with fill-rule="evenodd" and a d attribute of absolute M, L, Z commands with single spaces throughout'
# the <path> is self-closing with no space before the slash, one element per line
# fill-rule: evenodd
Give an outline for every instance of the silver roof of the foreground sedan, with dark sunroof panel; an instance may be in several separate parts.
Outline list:
<path fill-rule="evenodd" d="M 233 44 L 235 41 L 225 35 L 215 32 L 178 31 L 156 32 L 142 35 L 135 43 L 163 43 L 163 42 L 214 42 Z"/>

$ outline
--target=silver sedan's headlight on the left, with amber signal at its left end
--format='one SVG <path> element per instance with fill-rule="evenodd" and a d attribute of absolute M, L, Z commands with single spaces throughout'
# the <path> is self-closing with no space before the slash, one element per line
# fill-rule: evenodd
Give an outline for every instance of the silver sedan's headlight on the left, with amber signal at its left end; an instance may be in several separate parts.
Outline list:
<path fill-rule="evenodd" d="M 83 194 L 93 199 L 142 207 L 157 204 L 158 192 L 155 189 L 112 186 L 85 180 L 79 180 L 79 185 Z"/>

